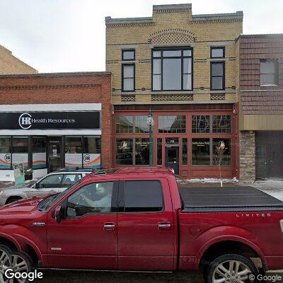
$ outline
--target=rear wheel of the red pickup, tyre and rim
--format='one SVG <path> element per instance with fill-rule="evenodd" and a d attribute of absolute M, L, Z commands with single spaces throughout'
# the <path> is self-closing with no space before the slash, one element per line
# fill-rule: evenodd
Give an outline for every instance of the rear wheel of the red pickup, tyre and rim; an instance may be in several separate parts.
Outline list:
<path fill-rule="evenodd" d="M 257 275 L 258 270 L 249 258 L 231 253 L 215 258 L 204 276 L 207 283 L 255 283 Z"/>

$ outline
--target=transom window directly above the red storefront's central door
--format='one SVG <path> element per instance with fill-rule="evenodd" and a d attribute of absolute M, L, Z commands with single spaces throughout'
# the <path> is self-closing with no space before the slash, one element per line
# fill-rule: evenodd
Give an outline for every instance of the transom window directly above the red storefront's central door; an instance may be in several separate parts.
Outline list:
<path fill-rule="evenodd" d="M 185 115 L 158 116 L 159 133 L 185 133 Z"/>

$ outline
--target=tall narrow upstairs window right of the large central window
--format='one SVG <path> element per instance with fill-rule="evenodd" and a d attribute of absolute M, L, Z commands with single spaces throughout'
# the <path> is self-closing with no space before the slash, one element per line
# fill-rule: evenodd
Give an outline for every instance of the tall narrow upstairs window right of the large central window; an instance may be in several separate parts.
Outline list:
<path fill-rule="evenodd" d="M 212 91 L 223 91 L 225 89 L 225 63 L 210 63 L 210 89 Z"/>

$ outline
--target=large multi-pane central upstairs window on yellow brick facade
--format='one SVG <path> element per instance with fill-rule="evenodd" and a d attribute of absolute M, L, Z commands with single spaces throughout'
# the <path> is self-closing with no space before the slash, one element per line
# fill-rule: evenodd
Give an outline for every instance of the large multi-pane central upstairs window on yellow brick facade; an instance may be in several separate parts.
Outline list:
<path fill-rule="evenodd" d="M 192 50 L 152 51 L 153 91 L 192 91 Z"/>

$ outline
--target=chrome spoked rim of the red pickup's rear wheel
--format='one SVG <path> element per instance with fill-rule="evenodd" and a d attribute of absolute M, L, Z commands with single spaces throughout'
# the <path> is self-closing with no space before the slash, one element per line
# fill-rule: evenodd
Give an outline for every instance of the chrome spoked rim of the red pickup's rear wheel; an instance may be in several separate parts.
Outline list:
<path fill-rule="evenodd" d="M 248 282 L 250 268 L 238 260 L 227 260 L 216 266 L 213 273 L 213 283 L 244 283 Z"/>

